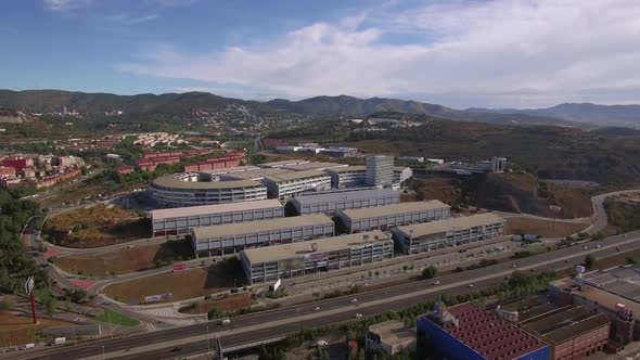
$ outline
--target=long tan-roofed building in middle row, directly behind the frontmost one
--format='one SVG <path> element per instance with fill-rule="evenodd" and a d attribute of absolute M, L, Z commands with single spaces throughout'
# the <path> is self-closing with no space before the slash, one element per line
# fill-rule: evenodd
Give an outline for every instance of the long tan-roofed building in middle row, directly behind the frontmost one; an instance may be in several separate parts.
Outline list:
<path fill-rule="evenodd" d="M 334 222 L 325 215 L 315 214 L 271 220 L 229 223 L 191 229 L 196 255 L 238 253 L 240 250 L 333 236 Z"/>

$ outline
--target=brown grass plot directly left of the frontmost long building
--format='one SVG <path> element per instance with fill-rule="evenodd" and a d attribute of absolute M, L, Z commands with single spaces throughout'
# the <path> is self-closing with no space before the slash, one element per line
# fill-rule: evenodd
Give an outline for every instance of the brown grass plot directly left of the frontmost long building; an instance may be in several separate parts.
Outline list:
<path fill-rule="evenodd" d="M 219 293 L 244 284 L 240 260 L 226 260 L 197 268 L 116 283 L 104 288 L 106 296 L 126 304 L 143 304 L 144 296 L 171 293 L 171 301 Z"/>

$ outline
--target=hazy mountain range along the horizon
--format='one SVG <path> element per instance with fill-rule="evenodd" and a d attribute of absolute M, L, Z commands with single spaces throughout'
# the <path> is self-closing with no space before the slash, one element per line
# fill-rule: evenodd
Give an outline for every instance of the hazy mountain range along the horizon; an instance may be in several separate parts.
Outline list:
<path fill-rule="evenodd" d="M 80 113 L 124 111 L 127 114 L 188 114 L 219 111 L 230 104 L 243 105 L 257 114 L 291 113 L 309 116 L 342 115 L 366 117 L 377 112 L 426 114 L 453 120 L 509 125 L 554 125 L 580 128 L 640 128 L 640 105 L 566 103 L 546 108 L 455 110 L 438 104 L 398 99 L 315 97 L 300 101 L 276 99 L 268 102 L 218 97 L 207 92 L 118 95 L 63 90 L 0 90 L 0 107 L 33 113 L 59 112 L 63 106 Z"/>

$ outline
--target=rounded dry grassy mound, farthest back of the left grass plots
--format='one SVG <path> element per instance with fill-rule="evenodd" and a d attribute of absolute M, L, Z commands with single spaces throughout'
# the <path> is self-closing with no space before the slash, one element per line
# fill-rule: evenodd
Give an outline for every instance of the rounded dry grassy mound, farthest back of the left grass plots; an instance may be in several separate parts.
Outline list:
<path fill-rule="evenodd" d="M 43 233 L 59 245 L 97 247 L 149 237 L 150 223 L 135 210 L 100 204 L 51 217 Z"/>

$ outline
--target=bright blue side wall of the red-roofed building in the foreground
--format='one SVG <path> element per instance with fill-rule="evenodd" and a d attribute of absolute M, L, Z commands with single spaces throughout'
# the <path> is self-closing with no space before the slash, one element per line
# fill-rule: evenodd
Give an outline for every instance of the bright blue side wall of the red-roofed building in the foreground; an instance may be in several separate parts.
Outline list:
<path fill-rule="evenodd" d="M 418 332 L 423 332 L 428 337 L 430 344 L 441 355 L 452 360 L 485 360 L 485 357 L 475 352 L 456 337 L 444 331 L 427 317 L 421 317 L 415 323 Z"/>

